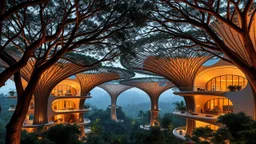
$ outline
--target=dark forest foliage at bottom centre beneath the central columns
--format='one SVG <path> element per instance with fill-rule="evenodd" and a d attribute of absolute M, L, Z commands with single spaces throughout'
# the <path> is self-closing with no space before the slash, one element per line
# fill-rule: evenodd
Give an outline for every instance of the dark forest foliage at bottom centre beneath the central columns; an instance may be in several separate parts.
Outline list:
<path fill-rule="evenodd" d="M 182 141 L 175 138 L 172 129 L 173 115 L 165 114 L 160 120 L 169 129 L 161 131 L 160 127 L 152 127 L 149 131 L 141 129 L 140 125 L 149 122 L 150 112 L 139 111 L 138 118 L 130 119 L 117 109 L 118 118 L 123 122 L 114 122 L 109 118 L 110 111 L 95 110 L 86 117 L 91 119 L 92 133 L 88 135 L 87 144 L 179 144 Z M 183 123 L 184 125 L 184 123 Z"/>

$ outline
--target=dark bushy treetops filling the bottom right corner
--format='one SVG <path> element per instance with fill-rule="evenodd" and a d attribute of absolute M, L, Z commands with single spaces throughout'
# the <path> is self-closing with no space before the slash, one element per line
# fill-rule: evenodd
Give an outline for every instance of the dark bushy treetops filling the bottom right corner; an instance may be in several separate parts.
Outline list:
<path fill-rule="evenodd" d="M 194 129 L 193 135 L 187 137 L 196 143 L 255 143 L 256 121 L 243 112 L 229 113 L 218 117 L 218 123 L 223 127 L 213 131 L 209 127 Z"/>

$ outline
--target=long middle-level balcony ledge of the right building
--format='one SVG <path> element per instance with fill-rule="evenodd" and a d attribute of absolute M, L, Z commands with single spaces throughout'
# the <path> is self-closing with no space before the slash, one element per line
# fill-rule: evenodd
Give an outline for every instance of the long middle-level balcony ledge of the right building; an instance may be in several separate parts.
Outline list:
<path fill-rule="evenodd" d="M 174 115 L 184 117 L 184 118 L 189 118 L 193 120 L 199 120 L 199 121 L 204 121 L 208 123 L 216 123 L 218 117 L 220 115 L 213 115 L 213 114 L 207 114 L 207 113 L 181 113 L 180 111 L 175 111 L 173 112 Z"/>

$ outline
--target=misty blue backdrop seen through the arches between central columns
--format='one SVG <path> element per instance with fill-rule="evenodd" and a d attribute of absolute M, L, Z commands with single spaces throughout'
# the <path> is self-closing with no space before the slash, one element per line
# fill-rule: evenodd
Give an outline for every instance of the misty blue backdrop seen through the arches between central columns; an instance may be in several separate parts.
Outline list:
<path fill-rule="evenodd" d="M 110 105 L 109 94 L 101 88 L 95 88 L 91 91 L 92 98 L 86 100 L 87 105 L 97 109 L 106 109 Z M 159 98 L 159 114 L 171 113 L 174 110 L 173 103 L 183 100 L 182 97 L 173 94 L 172 90 L 167 90 Z M 117 99 L 117 105 L 121 106 L 127 116 L 137 117 L 140 110 L 150 110 L 149 96 L 137 88 L 132 88 L 123 92 Z"/>

